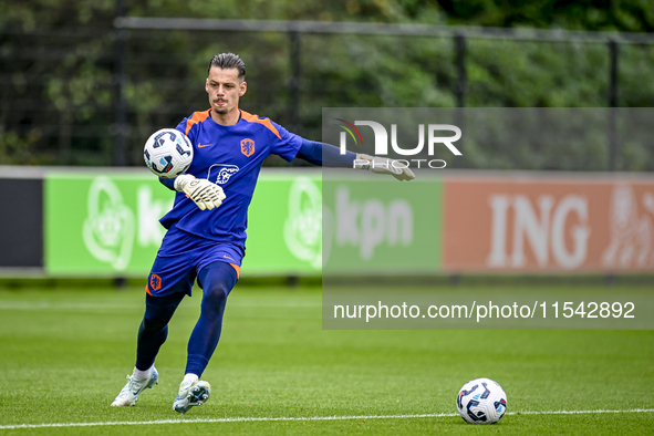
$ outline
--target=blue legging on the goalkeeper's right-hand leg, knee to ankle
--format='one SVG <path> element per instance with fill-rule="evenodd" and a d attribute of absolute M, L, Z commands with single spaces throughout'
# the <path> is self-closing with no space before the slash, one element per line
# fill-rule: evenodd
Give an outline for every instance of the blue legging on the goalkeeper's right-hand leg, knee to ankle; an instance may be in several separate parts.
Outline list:
<path fill-rule="evenodd" d="M 214 262 L 204 268 L 198 278 L 203 286 L 203 304 L 200 319 L 188 341 L 186 374 L 199 377 L 220 340 L 227 297 L 238 281 L 238 276 L 229 263 Z"/>

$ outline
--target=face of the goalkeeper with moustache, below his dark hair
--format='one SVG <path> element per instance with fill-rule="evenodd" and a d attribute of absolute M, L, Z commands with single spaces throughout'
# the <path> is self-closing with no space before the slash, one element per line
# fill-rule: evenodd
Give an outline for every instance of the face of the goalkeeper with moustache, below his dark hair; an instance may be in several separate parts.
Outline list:
<path fill-rule="evenodd" d="M 228 114 L 238 110 L 238 101 L 246 93 L 247 83 L 238 79 L 238 70 L 222 70 L 211 66 L 205 90 L 209 104 L 217 114 Z"/>

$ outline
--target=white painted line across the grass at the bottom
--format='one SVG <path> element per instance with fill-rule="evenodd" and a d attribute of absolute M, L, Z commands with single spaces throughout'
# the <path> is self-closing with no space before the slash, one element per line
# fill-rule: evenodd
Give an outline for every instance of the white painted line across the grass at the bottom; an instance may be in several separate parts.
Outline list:
<path fill-rule="evenodd" d="M 654 413 L 654 408 L 630 408 L 622 411 L 543 411 L 543 412 L 508 412 L 507 415 L 589 415 L 617 413 Z M 304 417 L 233 417 L 233 418 L 199 418 L 199 419 L 157 419 L 157 421 L 115 421 L 100 423 L 43 423 L 0 425 L 0 429 L 50 428 L 50 427 L 104 427 L 118 425 L 162 425 L 162 424 L 206 424 L 206 423 L 256 423 L 256 422 L 293 422 L 293 421 L 352 421 L 352 419 L 414 419 L 443 418 L 459 416 L 458 413 L 436 413 L 421 415 L 346 415 L 346 416 L 304 416 Z"/>

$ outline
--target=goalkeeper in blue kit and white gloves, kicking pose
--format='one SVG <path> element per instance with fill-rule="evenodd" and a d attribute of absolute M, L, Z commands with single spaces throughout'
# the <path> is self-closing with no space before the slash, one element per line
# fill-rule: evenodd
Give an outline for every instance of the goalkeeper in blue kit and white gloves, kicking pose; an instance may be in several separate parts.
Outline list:
<path fill-rule="evenodd" d="M 276 154 L 288 162 L 301 158 L 314 165 L 367 169 L 399 180 L 415 177 L 392 159 L 341 155 L 332 145 L 303 139 L 239 110 L 247 91 L 245 76 L 246 65 L 238 55 L 215 55 L 205 83 L 210 108 L 195 112 L 177 126 L 190 139 L 194 159 L 187 174 L 160 178 L 177 195 L 173 209 L 160 219 L 167 232 L 146 284 L 134 372 L 112 406 L 133 406 L 145 388 L 158 384 L 155 359 L 166 341 L 168 322 L 196 280 L 203 289 L 200 316 L 188 341 L 186 371 L 173 409 L 184 414 L 209 398 L 210 385 L 199 377 L 218 345 L 227 297 L 239 278 L 248 206 L 266 157 Z"/>

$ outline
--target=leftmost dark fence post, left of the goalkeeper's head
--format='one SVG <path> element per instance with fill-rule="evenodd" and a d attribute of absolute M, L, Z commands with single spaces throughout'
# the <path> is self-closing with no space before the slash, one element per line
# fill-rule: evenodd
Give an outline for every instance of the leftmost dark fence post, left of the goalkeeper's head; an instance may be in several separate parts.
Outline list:
<path fill-rule="evenodd" d="M 125 17 L 125 1 L 116 0 L 116 18 Z M 114 166 L 127 165 L 127 117 L 125 114 L 125 41 L 127 30 L 115 29 L 114 52 L 114 124 L 111 132 L 114 136 Z"/>

